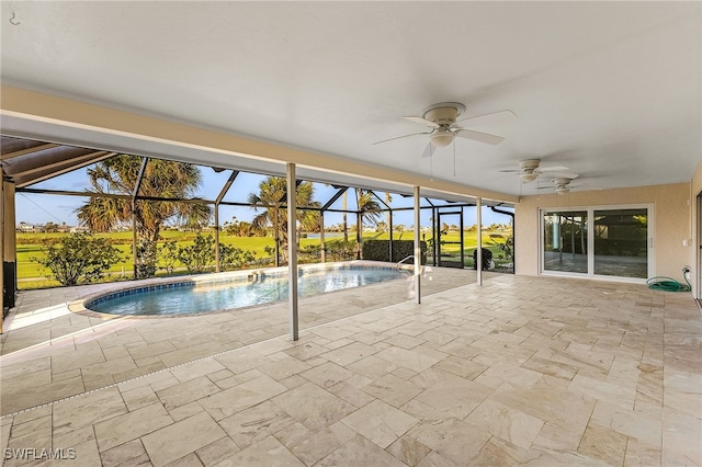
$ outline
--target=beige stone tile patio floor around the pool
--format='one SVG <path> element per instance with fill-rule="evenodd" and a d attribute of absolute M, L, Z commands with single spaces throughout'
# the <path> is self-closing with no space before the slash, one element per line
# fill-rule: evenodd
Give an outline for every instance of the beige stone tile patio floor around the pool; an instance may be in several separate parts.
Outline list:
<path fill-rule="evenodd" d="M 103 320 L 65 305 L 95 286 L 22 293 L 2 335 L 3 457 L 702 465 L 689 294 L 513 275 L 478 287 L 474 274 L 434 270 L 421 305 L 403 281 L 303 299 L 297 342 L 285 305 Z"/>

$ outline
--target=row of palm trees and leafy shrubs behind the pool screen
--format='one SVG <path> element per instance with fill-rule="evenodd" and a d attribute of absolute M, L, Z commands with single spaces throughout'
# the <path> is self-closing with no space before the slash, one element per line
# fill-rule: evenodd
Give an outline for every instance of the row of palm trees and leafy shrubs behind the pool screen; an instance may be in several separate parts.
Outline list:
<path fill-rule="evenodd" d="M 167 221 L 200 231 L 213 217 L 212 206 L 205 203 L 185 202 L 193 198 L 202 183 L 200 169 L 185 162 L 160 159 L 143 159 L 138 156 L 117 155 L 98 162 L 87 170 L 92 193 L 89 201 L 77 209 L 78 218 L 92 232 L 106 232 L 117 225 L 132 223 L 138 238 L 134 258 L 135 278 L 156 275 L 157 263 L 174 269 L 176 262 L 184 264 L 190 273 L 203 272 L 215 257 L 212 237 L 196 236 L 190 247 L 177 247 L 174 241 L 158 246 L 161 230 Z M 275 255 L 280 253 L 287 261 L 290 226 L 285 208 L 286 180 L 268 176 L 258 186 L 258 192 L 248 195 L 248 202 L 257 212 L 251 223 L 233 221 L 225 224 L 226 231 L 240 236 L 265 236 L 272 232 L 275 240 Z M 133 193 L 140 197 L 163 198 L 132 200 Z M 377 224 L 381 207 L 372 192 L 354 189 L 359 209 L 356 224 Z M 115 196 L 117 195 L 117 196 Z M 344 192 L 344 206 L 346 195 Z M 301 182 L 296 186 L 298 206 L 312 209 L 296 210 L 297 239 L 302 231 L 318 231 L 321 226 L 319 202 L 314 201 L 312 182 Z M 344 243 L 348 243 L 347 215 L 344 218 Z M 360 248 L 360 247 L 358 247 Z M 94 238 L 91 234 L 72 234 L 45 246 L 45 258 L 39 262 L 63 285 L 89 283 L 100 277 L 112 264 L 121 260 L 118 250 L 110 239 Z M 253 253 L 226 244 L 219 244 L 219 258 L 225 264 L 241 266 L 253 260 Z M 278 263 L 278 261 L 276 261 Z"/>

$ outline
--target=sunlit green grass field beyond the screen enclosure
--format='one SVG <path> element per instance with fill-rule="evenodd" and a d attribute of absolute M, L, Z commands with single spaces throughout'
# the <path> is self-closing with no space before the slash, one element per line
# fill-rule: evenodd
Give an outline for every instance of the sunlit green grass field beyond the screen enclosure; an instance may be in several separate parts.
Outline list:
<path fill-rule="evenodd" d="M 61 236 L 66 236 L 69 234 L 18 234 L 16 235 L 16 251 L 18 251 L 18 280 L 20 289 L 26 288 L 37 288 L 37 287 L 53 287 L 57 286 L 58 283 L 47 280 L 46 277 L 49 275 L 49 272 L 42 266 L 39 263 L 32 261 L 32 258 L 44 258 L 44 244 L 47 241 L 56 240 Z M 204 235 L 213 235 L 212 232 L 205 232 Z M 484 248 L 488 248 L 492 250 L 494 255 L 498 254 L 498 244 L 503 243 L 509 232 L 483 232 L 483 246 Z M 110 269 L 110 273 L 112 273 L 112 277 L 118 280 L 124 276 L 125 278 L 129 278 L 133 270 L 132 262 L 132 232 L 110 232 L 110 234 L 97 234 L 97 237 L 110 238 L 116 244 L 115 247 L 120 249 L 122 252 L 124 260 L 121 263 L 113 265 Z M 339 240 L 340 237 L 332 237 L 333 234 L 327 235 L 326 242 L 327 244 L 333 242 L 335 240 Z M 193 232 L 183 232 L 177 230 L 167 230 L 161 232 L 161 238 L 163 240 L 176 240 L 179 247 L 184 247 L 192 244 L 193 238 L 195 234 Z M 366 239 L 378 239 L 378 240 L 387 240 L 389 238 L 388 234 L 375 234 L 375 232 L 364 232 L 363 240 Z M 411 240 L 412 232 L 404 232 L 394 234 L 393 239 L 398 240 Z M 424 240 L 429 241 L 431 236 L 427 235 L 423 237 Z M 349 241 L 353 241 L 355 239 L 354 232 L 349 232 Z M 457 243 L 460 240 L 460 232 L 452 231 L 442 236 L 442 241 L 445 243 L 442 246 L 442 252 L 449 254 L 457 254 L 460 250 L 460 244 Z M 219 241 L 222 243 L 230 244 L 236 248 L 240 248 L 242 250 L 253 251 L 256 253 L 257 259 L 269 258 L 269 254 L 265 252 L 267 247 L 274 247 L 274 241 L 272 237 L 235 237 L 226 234 L 220 234 Z M 456 243 L 454 243 L 456 242 Z M 473 250 L 475 250 L 477 244 L 477 236 L 476 232 L 464 232 L 464 254 L 466 258 L 466 266 L 471 266 L 473 263 L 472 254 Z M 319 246 L 319 238 L 302 238 L 301 239 L 301 249 L 304 250 L 309 246 Z M 431 255 L 431 253 L 430 253 Z"/>

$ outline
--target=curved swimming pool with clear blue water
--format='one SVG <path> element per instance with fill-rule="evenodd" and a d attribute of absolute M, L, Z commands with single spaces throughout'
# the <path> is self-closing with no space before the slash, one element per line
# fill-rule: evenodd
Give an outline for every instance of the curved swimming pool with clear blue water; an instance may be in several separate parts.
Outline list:
<path fill-rule="evenodd" d="M 298 270 L 298 296 L 308 297 L 407 277 L 394 266 L 308 265 Z M 287 298 L 287 269 L 238 271 L 110 292 L 84 300 L 88 310 L 122 316 L 179 316 L 244 308 Z"/>

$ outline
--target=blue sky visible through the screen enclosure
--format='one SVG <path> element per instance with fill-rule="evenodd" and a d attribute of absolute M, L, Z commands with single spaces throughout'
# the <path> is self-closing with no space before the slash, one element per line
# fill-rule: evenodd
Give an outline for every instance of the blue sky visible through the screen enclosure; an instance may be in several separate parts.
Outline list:
<path fill-rule="evenodd" d="M 215 200 L 222 187 L 225 185 L 231 171 L 225 170 L 220 173 L 214 172 L 211 168 L 201 167 L 201 173 L 203 175 L 203 183 L 196 191 L 195 196 L 204 200 Z M 264 175 L 258 175 L 252 173 L 240 173 L 231 187 L 224 197 L 225 202 L 240 202 L 246 203 L 249 193 L 257 193 L 259 183 L 263 180 Z M 43 190 L 63 190 L 63 191 L 84 191 L 90 187 L 90 182 L 87 176 L 87 169 L 79 169 L 70 173 L 58 175 L 56 178 L 46 180 L 31 186 L 32 189 Z M 315 195 L 314 198 L 321 204 L 326 204 L 328 200 L 337 192 L 332 186 L 324 183 L 314 183 Z M 378 193 L 384 200 L 384 194 Z M 21 221 L 27 224 L 46 224 L 66 223 L 69 226 L 78 224 L 76 215 L 77 209 L 88 201 L 88 197 L 81 196 L 66 196 L 66 195 L 50 195 L 50 194 L 35 194 L 35 193 L 21 193 L 18 192 L 15 196 L 15 217 L 16 224 Z M 352 191 L 348 192 L 347 207 L 349 209 L 355 208 L 355 197 Z M 429 205 L 422 201 L 422 205 Z M 400 195 L 393 195 L 390 207 L 412 207 L 414 201 L 411 197 L 404 197 Z M 340 209 L 342 207 L 342 198 L 337 200 L 332 204 L 331 208 Z M 455 210 L 455 209 L 451 209 Z M 476 224 L 476 213 L 474 207 L 466 207 L 464 209 L 464 226 L 472 226 Z M 251 207 L 235 207 L 220 205 L 219 207 L 219 223 L 231 223 L 233 220 L 250 221 L 257 212 Z M 431 226 L 431 209 L 421 210 L 421 225 Z M 458 216 L 442 215 L 441 221 L 446 224 L 458 224 Z M 383 220 L 385 218 L 383 217 Z M 491 209 L 483 208 L 483 224 L 510 224 L 510 217 L 501 214 L 492 213 Z M 342 221 L 342 215 L 340 213 L 327 213 L 325 214 L 325 226 L 329 227 Z M 354 224 L 355 219 L 349 218 L 349 224 Z M 396 212 L 393 217 L 393 225 L 404 225 L 411 227 L 414 225 L 414 213 L 411 210 Z"/>

